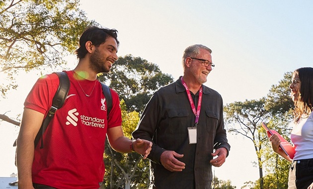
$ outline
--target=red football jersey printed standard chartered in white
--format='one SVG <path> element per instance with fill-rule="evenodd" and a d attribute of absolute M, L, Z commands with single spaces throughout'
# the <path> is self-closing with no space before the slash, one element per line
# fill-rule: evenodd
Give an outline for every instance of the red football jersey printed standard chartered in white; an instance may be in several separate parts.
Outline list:
<path fill-rule="evenodd" d="M 40 142 L 35 148 L 33 183 L 61 189 L 97 189 L 105 172 L 103 153 L 107 128 L 122 125 L 120 100 L 111 90 L 112 109 L 107 120 L 106 99 L 100 82 L 82 80 L 78 83 L 72 71 L 66 73 L 70 90 L 43 135 L 44 148 L 40 149 Z M 40 78 L 24 106 L 46 116 L 58 86 L 56 74 Z M 91 91 L 89 97 L 85 95 Z"/>

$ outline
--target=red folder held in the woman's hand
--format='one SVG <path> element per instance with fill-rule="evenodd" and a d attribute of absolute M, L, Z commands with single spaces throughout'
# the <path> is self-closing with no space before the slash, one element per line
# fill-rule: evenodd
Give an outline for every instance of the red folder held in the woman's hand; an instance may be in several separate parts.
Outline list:
<path fill-rule="evenodd" d="M 273 134 L 276 134 L 278 138 L 280 139 L 281 143 L 279 145 L 280 149 L 284 151 L 284 153 L 290 157 L 290 159 L 294 159 L 295 157 L 295 147 L 293 147 L 286 139 L 284 139 L 278 132 L 274 130 L 270 130 L 267 125 L 262 122 L 262 127 L 266 130 L 267 137 L 271 137 Z"/>

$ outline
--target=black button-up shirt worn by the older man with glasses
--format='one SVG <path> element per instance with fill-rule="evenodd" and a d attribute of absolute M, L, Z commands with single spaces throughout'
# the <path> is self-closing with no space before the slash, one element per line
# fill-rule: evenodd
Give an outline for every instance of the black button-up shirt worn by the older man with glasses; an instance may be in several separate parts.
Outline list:
<path fill-rule="evenodd" d="M 191 93 L 192 94 L 192 93 Z M 197 106 L 199 92 L 192 94 Z M 197 108 L 197 107 L 196 107 Z M 197 125 L 197 144 L 189 144 L 188 127 L 194 127 L 195 115 L 180 78 L 160 88 L 150 99 L 133 132 L 134 138 L 153 142 L 148 158 L 151 160 L 151 188 L 155 189 L 211 189 L 212 166 L 210 160 L 215 148 L 230 145 L 226 138 L 223 119 L 223 100 L 219 93 L 203 86 L 202 104 Z M 160 164 L 165 150 L 184 157 L 182 172 L 170 172 Z"/>

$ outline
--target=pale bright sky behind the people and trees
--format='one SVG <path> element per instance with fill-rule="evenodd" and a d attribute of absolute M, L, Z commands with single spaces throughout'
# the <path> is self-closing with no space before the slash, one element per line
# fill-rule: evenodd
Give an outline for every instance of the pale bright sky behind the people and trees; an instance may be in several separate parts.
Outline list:
<path fill-rule="evenodd" d="M 182 75 L 184 49 L 208 46 L 216 66 L 205 85 L 218 91 L 224 104 L 259 99 L 284 73 L 313 66 L 310 0 L 81 0 L 81 9 L 89 19 L 119 31 L 118 56 L 139 56 L 175 80 Z M 37 79 L 26 77 L 19 77 L 21 87 L 0 100 L 1 114 L 11 110 L 6 115 L 14 118 L 22 113 Z M 13 160 L 7 159 L 14 157 L 18 128 L 0 122 L 0 133 L 0 177 L 7 177 L 16 173 Z M 215 175 L 239 189 L 258 179 L 258 169 L 251 163 L 256 155 L 251 141 L 241 136 L 229 134 L 229 142 L 230 156 Z"/>

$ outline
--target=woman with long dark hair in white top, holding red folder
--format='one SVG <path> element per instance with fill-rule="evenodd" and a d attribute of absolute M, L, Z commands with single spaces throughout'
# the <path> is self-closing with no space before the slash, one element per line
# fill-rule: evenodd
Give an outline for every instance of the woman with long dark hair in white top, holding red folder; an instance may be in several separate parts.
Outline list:
<path fill-rule="evenodd" d="M 276 134 L 269 140 L 274 152 L 292 163 L 288 189 L 313 189 L 313 68 L 295 70 L 289 88 L 295 104 L 295 125 L 291 132 L 296 151 L 293 160 L 279 148 L 281 141 Z"/>

